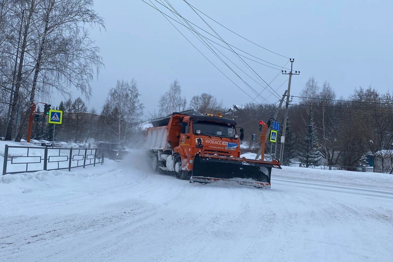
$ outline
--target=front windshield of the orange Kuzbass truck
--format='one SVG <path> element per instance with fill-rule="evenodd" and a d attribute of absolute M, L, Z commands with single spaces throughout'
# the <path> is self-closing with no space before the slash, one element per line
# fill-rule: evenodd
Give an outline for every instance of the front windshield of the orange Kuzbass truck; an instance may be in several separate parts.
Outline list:
<path fill-rule="evenodd" d="M 219 136 L 235 138 L 236 128 L 233 125 L 226 123 L 216 123 L 208 121 L 194 121 L 193 122 L 193 133 L 198 135 L 196 131 L 200 131 L 200 135 L 205 136 Z"/>

